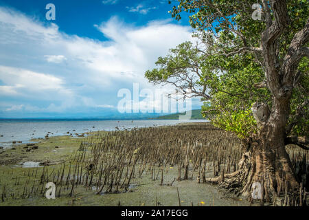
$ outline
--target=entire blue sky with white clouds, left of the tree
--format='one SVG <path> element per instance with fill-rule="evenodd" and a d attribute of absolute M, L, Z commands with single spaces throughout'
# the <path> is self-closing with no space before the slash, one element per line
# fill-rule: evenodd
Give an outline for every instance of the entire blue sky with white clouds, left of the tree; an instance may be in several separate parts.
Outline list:
<path fill-rule="evenodd" d="M 54 21 L 45 17 L 48 3 L 55 5 Z M 175 4 L 0 0 L 0 118 L 115 115 L 123 112 L 124 89 L 137 112 L 160 112 L 159 96 L 145 98 L 139 91 L 164 95 L 172 87 L 152 85 L 144 74 L 169 49 L 194 41 L 188 20 L 168 14 Z M 192 100 L 192 109 L 201 104 Z"/>

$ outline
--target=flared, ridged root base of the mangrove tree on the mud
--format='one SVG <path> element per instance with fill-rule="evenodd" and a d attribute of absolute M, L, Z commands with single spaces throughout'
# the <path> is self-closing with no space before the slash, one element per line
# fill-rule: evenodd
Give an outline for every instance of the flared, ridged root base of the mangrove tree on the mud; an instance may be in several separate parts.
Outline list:
<path fill-rule="evenodd" d="M 278 152 L 280 155 L 282 152 Z M 299 184 L 293 176 L 293 171 L 290 166 L 287 166 L 286 157 L 279 157 L 276 163 L 271 163 L 273 155 L 266 155 L 266 153 L 251 153 L 246 152 L 239 162 L 239 169 L 236 172 L 229 174 L 221 174 L 215 178 L 205 179 L 207 183 L 218 184 L 219 187 L 234 192 L 236 195 L 242 195 L 249 200 L 253 196 L 253 186 L 260 184 L 260 199 L 261 203 L 264 200 L 268 203 L 273 202 L 276 206 L 288 206 L 287 201 L 294 201 L 296 205 L 297 196 L 291 199 L 291 192 L 294 196 L 295 189 L 299 188 Z M 286 184 L 285 184 L 286 183 Z M 285 202 L 279 198 L 280 190 L 284 188 L 286 194 L 284 195 Z M 256 198 L 254 198 L 256 199 Z"/>

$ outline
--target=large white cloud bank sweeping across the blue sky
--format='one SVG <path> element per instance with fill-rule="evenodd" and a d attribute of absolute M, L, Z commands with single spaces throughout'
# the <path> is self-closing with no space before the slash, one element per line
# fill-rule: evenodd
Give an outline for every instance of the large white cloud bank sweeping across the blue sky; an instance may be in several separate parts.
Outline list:
<path fill-rule="evenodd" d="M 107 1 L 106 1 L 107 2 Z M 112 3 L 112 2 L 111 2 Z M 154 21 L 133 27 L 117 17 L 96 24 L 108 41 L 60 32 L 21 12 L 0 7 L 1 102 L 23 110 L 76 111 L 117 107 L 117 91 L 139 83 L 159 56 L 183 41 L 192 41 L 190 27 Z M 14 103 L 10 104 L 10 98 Z M 3 111 L 4 107 L 0 106 Z"/>

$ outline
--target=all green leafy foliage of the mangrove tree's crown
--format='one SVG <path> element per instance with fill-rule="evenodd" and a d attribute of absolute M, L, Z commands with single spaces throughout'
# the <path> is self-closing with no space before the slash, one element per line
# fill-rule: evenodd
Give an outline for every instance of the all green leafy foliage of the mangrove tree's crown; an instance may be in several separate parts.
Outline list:
<path fill-rule="evenodd" d="M 250 137 L 257 131 L 251 105 L 266 102 L 272 107 L 273 98 L 268 89 L 256 86 L 266 80 L 262 56 L 252 51 L 236 51 L 260 47 L 266 28 L 265 13 L 262 21 L 251 19 L 255 0 L 178 1 L 170 12 L 172 17 L 180 20 L 182 13 L 189 13 L 190 24 L 196 30 L 194 36 L 203 47 L 190 42 L 179 45 L 165 58 L 159 58 L 158 68 L 146 72 L 146 78 L 151 83 L 170 83 L 178 89 L 193 87 L 200 94 L 207 94 L 203 96 L 207 100 L 203 115 L 240 138 Z M 304 27 L 309 16 L 306 0 L 286 0 L 286 5 L 290 23 L 278 41 L 279 60 L 284 58 L 293 36 Z M 309 97 L 308 63 L 308 58 L 299 63 L 300 80 L 293 90 L 288 118 L 289 123 L 295 120 L 297 123 L 290 134 L 309 133 L 308 106 L 302 109 L 303 117 L 297 118 L 297 109 Z"/>

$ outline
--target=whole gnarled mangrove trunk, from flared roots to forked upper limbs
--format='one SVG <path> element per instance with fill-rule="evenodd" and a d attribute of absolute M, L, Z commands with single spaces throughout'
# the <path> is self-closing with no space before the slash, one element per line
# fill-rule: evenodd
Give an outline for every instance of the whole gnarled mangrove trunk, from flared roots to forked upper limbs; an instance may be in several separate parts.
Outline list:
<path fill-rule="evenodd" d="M 290 98 L 297 80 L 297 66 L 304 56 L 309 56 L 305 44 L 309 39 L 309 19 L 305 27 L 295 34 L 288 52 L 279 60 L 279 36 L 288 25 L 286 1 L 263 1 L 266 30 L 262 33 L 261 46 L 264 58 L 266 87 L 273 95 L 272 108 L 255 103 L 252 111 L 258 124 L 258 137 L 247 142 L 247 151 L 239 163 L 239 170 L 207 181 L 219 182 L 225 188 L 241 188 L 242 195 L 251 196 L 255 182 L 262 184 L 262 197 L 271 201 L 286 188 L 298 188 L 290 158 L 286 153 L 286 125 L 290 114 Z M 273 19 L 272 19 L 273 17 Z"/>

